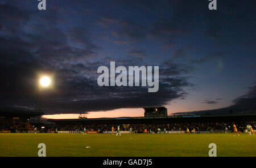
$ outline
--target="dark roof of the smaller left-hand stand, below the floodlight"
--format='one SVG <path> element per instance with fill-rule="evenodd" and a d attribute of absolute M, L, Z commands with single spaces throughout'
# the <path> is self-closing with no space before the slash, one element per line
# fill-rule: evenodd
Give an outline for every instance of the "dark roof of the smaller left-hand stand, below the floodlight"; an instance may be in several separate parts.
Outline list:
<path fill-rule="evenodd" d="M 35 117 L 44 113 L 34 110 L 0 109 L 1 117 Z"/>

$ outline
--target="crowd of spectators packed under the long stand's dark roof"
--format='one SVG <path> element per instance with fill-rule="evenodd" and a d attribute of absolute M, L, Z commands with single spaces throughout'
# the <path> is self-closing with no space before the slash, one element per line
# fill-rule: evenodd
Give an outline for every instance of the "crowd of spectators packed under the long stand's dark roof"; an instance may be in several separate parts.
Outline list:
<path fill-rule="evenodd" d="M 245 121 L 240 123 L 235 123 L 238 130 L 243 132 L 246 130 L 247 124 L 250 124 L 253 129 L 256 128 L 255 121 Z M 112 127 L 114 130 L 117 129 L 117 126 L 120 126 L 121 131 L 130 131 L 134 133 L 141 133 L 144 130 L 151 130 L 152 132 L 157 132 L 158 128 L 160 130 L 166 131 L 185 131 L 187 128 L 189 130 L 198 131 L 210 131 L 210 132 L 222 132 L 227 128 L 228 131 L 233 131 L 233 123 L 224 123 L 224 122 L 205 122 L 205 123 L 154 123 L 154 124 L 82 124 L 82 125 L 59 125 L 55 126 L 53 129 L 59 131 L 82 131 L 86 128 L 86 131 L 111 131 Z"/>

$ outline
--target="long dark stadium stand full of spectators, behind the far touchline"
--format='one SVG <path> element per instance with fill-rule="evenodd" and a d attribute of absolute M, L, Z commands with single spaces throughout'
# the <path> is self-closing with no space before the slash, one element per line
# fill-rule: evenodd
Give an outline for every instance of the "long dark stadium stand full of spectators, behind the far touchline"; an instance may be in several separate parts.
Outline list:
<path fill-rule="evenodd" d="M 246 125 L 250 124 L 256 128 L 256 113 L 236 114 L 211 114 L 211 115 L 172 115 L 172 116 L 151 116 L 151 117 L 121 117 L 121 118 L 82 118 L 82 119 L 48 119 L 55 123 L 54 128 L 59 131 L 82 131 L 84 127 L 88 131 L 105 132 L 120 125 L 121 131 L 129 131 L 132 128 L 134 133 L 166 131 L 185 131 L 195 128 L 196 132 L 224 132 L 233 131 L 233 123 L 236 123 L 238 130 L 243 132 Z"/>

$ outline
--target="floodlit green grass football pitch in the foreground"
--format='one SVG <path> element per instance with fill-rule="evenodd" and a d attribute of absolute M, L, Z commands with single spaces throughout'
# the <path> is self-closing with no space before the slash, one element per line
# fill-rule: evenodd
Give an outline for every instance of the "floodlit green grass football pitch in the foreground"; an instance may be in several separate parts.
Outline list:
<path fill-rule="evenodd" d="M 208 156 L 210 143 L 217 156 L 256 156 L 255 142 L 256 135 L 247 133 L 0 133 L 0 156 L 38 156 L 39 143 L 46 144 L 47 156 Z"/>

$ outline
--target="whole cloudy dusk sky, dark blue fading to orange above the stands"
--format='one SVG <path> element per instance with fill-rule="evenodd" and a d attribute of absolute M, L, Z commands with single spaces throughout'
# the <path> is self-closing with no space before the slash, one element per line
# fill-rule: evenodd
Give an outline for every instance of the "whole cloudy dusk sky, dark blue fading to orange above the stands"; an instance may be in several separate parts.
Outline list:
<path fill-rule="evenodd" d="M 136 117 L 150 106 L 170 115 L 256 97 L 255 1 L 38 3 L 0 0 L 1 107 L 35 108 L 42 75 L 52 79 L 47 118 Z M 110 61 L 159 66 L 159 91 L 98 86 L 97 68 Z"/>

